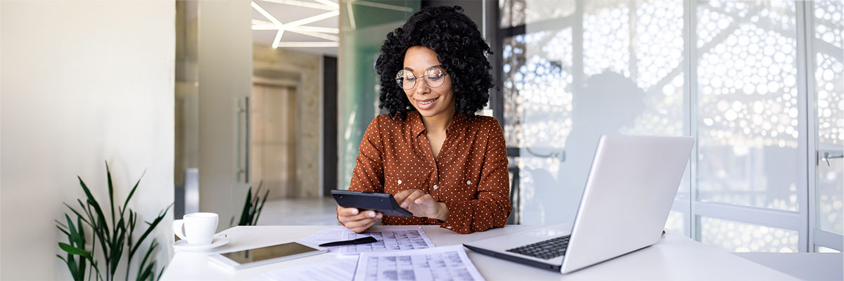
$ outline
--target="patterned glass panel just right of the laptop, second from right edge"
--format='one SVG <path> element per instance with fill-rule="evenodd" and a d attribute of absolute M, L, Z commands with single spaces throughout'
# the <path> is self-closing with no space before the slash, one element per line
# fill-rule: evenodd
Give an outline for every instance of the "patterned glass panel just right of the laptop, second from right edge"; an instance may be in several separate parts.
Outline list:
<path fill-rule="evenodd" d="M 796 3 L 706 1 L 695 11 L 698 199 L 796 214 L 807 190 Z M 698 223 L 702 241 L 729 251 L 749 251 L 735 236 L 768 230 L 706 216 Z M 792 226 L 785 231 L 796 239 L 800 224 Z M 750 250 L 798 251 L 797 241 L 775 238 Z"/>

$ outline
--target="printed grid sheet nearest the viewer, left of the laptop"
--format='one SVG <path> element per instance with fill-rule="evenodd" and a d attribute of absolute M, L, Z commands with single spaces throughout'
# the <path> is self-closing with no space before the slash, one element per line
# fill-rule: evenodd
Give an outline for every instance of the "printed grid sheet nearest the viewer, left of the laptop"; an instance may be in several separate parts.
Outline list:
<path fill-rule="evenodd" d="M 462 245 L 360 253 L 355 281 L 484 280 Z"/>

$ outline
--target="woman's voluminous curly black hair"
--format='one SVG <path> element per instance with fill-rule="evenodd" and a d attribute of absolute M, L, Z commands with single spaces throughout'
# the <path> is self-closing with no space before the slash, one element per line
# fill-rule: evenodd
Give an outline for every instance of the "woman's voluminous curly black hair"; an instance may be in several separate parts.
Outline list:
<path fill-rule="evenodd" d="M 402 27 L 387 34 L 376 61 L 376 73 L 381 78 L 379 108 L 386 108 L 389 116 L 400 116 L 402 120 L 416 110 L 396 83 L 396 73 L 404 68 L 404 54 L 412 46 L 425 46 L 436 52 L 452 78 L 457 113 L 474 116 L 484 108 L 494 85 L 492 66 L 484 52 L 492 51 L 478 25 L 463 14 L 460 6 L 423 8 Z"/>

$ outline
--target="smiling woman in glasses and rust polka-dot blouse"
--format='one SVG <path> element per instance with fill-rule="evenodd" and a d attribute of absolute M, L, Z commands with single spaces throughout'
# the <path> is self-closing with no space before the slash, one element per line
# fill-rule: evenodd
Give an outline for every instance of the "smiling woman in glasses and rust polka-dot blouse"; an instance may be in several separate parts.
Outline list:
<path fill-rule="evenodd" d="M 490 53 L 463 8 L 419 10 L 387 35 L 376 61 L 381 105 L 360 142 L 349 190 L 386 192 L 413 217 L 337 208 L 363 232 L 381 224 L 441 224 L 457 233 L 504 227 L 510 215 L 504 133 L 475 116 L 492 88 Z"/>

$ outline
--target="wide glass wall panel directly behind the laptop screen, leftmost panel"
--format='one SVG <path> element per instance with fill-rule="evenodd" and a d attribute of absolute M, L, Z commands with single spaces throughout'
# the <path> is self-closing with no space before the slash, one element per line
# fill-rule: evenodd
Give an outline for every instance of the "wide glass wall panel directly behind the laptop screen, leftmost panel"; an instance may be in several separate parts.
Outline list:
<path fill-rule="evenodd" d="M 683 2 L 513 0 L 500 12 L 522 224 L 574 220 L 600 135 L 689 134 Z M 675 207 L 688 213 L 684 179 Z M 687 229 L 684 217 L 670 227 Z"/>

